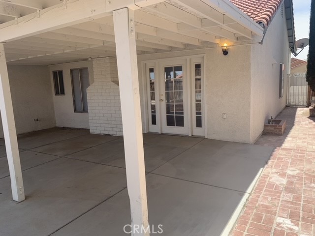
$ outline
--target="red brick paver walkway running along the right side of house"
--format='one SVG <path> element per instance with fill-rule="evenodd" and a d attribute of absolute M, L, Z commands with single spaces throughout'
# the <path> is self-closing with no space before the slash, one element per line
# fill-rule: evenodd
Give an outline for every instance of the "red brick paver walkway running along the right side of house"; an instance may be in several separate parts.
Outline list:
<path fill-rule="evenodd" d="M 262 135 L 275 150 L 230 236 L 315 235 L 315 118 L 308 108 L 285 108 L 283 136 Z"/>

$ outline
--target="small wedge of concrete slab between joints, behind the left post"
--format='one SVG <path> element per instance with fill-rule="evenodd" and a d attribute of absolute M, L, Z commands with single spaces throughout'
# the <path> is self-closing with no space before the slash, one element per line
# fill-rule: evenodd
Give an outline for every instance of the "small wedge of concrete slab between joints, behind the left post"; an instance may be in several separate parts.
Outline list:
<path fill-rule="evenodd" d="M 48 161 L 55 160 L 57 158 L 59 157 L 33 151 L 20 152 L 22 171 L 46 163 Z M 9 176 L 8 162 L 6 157 L 2 157 L 0 158 L 0 178 L 6 176 Z"/>

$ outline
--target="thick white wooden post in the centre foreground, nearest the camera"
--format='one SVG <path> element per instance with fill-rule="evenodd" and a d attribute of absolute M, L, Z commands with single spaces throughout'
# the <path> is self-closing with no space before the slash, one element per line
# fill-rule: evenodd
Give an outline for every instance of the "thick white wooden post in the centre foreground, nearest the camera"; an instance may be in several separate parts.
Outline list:
<path fill-rule="evenodd" d="M 127 187 L 134 228 L 147 228 L 148 206 L 142 138 L 134 11 L 113 11 L 119 90 L 123 118 Z M 133 236 L 149 236 L 149 232 Z"/>

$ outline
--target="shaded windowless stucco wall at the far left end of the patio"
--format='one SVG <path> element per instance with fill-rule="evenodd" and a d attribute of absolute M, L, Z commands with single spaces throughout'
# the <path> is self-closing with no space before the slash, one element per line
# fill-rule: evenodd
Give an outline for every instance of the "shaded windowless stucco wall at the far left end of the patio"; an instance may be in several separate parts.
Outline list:
<path fill-rule="evenodd" d="M 8 65 L 15 125 L 18 134 L 56 125 L 47 66 Z M 37 119 L 38 121 L 34 121 Z M 3 137 L 2 125 L 0 137 Z"/>

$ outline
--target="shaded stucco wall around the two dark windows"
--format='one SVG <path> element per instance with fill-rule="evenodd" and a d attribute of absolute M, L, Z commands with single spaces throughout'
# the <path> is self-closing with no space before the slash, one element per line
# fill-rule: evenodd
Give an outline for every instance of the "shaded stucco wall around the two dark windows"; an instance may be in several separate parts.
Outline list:
<path fill-rule="evenodd" d="M 51 82 L 51 94 L 53 94 L 56 125 L 60 127 L 75 127 L 75 128 L 86 128 L 89 129 L 89 114 L 88 113 L 75 113 L 73 107 L 73 95 L 71 85 L 71 74 L 70 70 L 75 68 L 89 69 L 89 82 L 90 85 L 94 82 L 93 75 L 93 63 L 92 60 L 66 63 L 60 65 L 50 66 L 50 82 Z M 65 95 L 55 95 L 53 73 L 55 70 L 63 70 L 63 83 Z"/>

